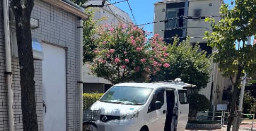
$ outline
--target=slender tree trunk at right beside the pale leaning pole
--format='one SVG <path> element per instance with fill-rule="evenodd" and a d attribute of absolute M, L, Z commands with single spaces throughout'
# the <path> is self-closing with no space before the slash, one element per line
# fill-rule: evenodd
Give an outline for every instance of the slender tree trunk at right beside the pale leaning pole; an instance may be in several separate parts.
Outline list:
<path fill-rule="evenodd" d="M 236 105 L 236 99 L 237 99 L 237 90 L 238 90 L 238 86 L 240 85 L 239 82 L 240 82 L 240 79 L 241 79 L 241 74 L 242 74 L 242 67 L 240 65 L 238 65 L 238 72 L 237 72 L 236 81 L 233 84 L 234 92 L 233 92 L 232 99 L 231 99 L 230 115 L 228 117 L 227 131 L 230 131 L 231 124 L 232 124 L 232 122 L 234 120 L 234 116 L 235 116 L 235 108 L 236 108 L 235 105 Z"/>

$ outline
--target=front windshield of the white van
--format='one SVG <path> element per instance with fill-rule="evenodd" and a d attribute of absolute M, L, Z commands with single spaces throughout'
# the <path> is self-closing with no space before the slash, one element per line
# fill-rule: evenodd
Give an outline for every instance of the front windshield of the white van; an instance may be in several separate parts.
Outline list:
<path fill-rule="evenodd" d="M 118 104 L 144 104 L 153 89 L 134 86 L 114 86 L 100 99 L 101 102 Z"/>

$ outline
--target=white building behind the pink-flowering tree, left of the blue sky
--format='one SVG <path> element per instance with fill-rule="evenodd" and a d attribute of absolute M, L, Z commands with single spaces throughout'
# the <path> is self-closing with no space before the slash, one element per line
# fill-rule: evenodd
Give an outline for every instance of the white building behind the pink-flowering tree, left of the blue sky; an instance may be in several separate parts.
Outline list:
<path fill-rule="evenodd" d="M 87 5 L 101 5 L 102 0 L 92 0 L 87 3 Z M 106 1 L 105 6 L 94 7 L 94 20 L 99 20 L 105 17 L 105 21 L 100 21 L 98 24 L 102 25 L 105 23 L 117 25 L 118 23 L 130 24 L 133 23 L 129 14 L 118 8 L 117 6 L 110 4 Z M 99 92 L 103 93 L 110 88 L 111 82 L 94 75 L 90 75 L 91 71 L 87 67 L 83 66 L 83 91 L 84 92 Z"/>

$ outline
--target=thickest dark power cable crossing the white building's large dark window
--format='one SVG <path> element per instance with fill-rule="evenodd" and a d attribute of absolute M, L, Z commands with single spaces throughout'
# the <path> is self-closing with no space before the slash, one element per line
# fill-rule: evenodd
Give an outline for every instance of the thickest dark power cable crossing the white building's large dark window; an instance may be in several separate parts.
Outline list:
<path fill-rule="evenodd" d="M 221 15 L 205 15 L 205 16 L 178 16 L 175 18 L 170 18 L 170 19 L 166 19 L 166 20 L 161 20 L 161 21 L 155 21 L 155 22 L 149 22 L 149 23 L 144 23 L 144 24 L 138 24 L 138 25 L 134 25 L 134 27 L 138 27 L 138 26 L 142 26 L 142 25 L 147 25 L 147 24 L 154 24 L 154 23 L 159 23 L 159 22 L 167 22 L 169 20 L 174 20 L 174 19 L 190 19 L 190 20 L 201 20 L 201 19 L 205 19 L 205 18 L 214 18 L 214 17 L 221 17 Z"/>

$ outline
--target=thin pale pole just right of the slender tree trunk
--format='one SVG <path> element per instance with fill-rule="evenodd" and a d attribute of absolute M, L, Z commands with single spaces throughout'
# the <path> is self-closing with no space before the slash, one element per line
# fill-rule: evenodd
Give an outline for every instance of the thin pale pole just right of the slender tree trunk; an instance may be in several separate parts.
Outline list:
<path fill-rule="evenodd" d="M 240 100 L 239 100 L 239 106 L 238 106 L 238 111 L 237 111 L 237 118 L 234 121 L 234 125 L 232 130 L 236 131 L 239 129 L 239 124 L 240 124 L 240 118 L 241 118 L 241 113 L 242 113 L 242 107 L 243 107 L 243 100 L 244 100 L 244 89 L 245 89 L 245 84 L 246 84 L 246 73 L 244 74 L 242 78 L 242 87 L 240 91 Z"/>

